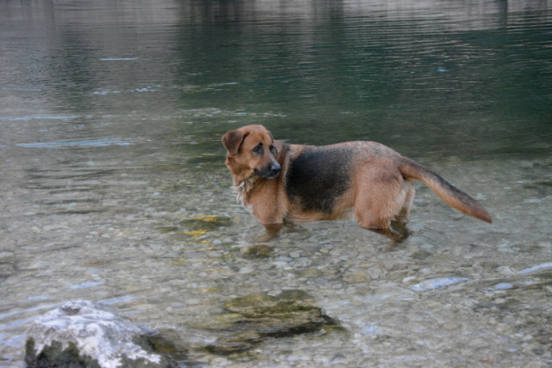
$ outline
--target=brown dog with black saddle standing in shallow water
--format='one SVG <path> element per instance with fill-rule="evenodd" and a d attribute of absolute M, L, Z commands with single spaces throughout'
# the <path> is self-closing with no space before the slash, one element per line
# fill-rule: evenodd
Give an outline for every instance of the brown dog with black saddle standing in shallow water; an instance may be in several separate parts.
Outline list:
<path fill-rule="evenodd" d="M 287 144 L 275 141 L 263 126 L 248 126 L 228 132 L 223 144 L 239 202 L 267 230 L 285 220 L 354 216 L 362 228 L 390 236 L 392 220 L 408 222 L 412 179 L 424 182 L 454 209 L 492 223 L 491 215 L 465 192 L 380 143 Z"/>

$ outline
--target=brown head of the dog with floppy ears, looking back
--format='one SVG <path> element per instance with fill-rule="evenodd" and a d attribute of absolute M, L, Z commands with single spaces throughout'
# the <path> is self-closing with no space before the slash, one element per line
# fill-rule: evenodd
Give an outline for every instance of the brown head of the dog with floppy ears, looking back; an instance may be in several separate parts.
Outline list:
<path fill-rule="evenodd" d="M 226 166 L 238 181 L 253 174 L 272 179 L 280 175 L 276 147 L 271 133 L 263 126 L 240 127 L 223 136 Z"/>

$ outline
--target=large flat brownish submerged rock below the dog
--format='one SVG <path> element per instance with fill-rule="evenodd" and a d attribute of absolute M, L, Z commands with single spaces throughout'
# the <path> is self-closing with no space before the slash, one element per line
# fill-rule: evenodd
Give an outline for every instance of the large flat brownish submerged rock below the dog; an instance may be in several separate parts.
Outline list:
<path fill-rule="evenodd" d="M 250 294 L 223 304 L 225 313 L 217 315 L 203 328 L 223 333 L 207 351 L 231 355 L 254 348 L 266 338 L 287 337 L 314 332 L 337 321 L 313 306 L 313 298 L 302 290 L 284 290 L 278 297 Z"/>

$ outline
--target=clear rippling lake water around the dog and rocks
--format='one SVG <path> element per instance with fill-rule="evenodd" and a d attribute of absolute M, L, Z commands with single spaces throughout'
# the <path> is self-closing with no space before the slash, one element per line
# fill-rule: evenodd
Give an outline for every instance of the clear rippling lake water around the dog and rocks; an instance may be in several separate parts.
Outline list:
<path fill-rule="evenodd" d="M 175 330 L 207 366 L 552 364 L 546 2 L 6 1 L 0 28 L 0 366 L 78 298 Z M 320 222 L 244 257 L 264 229 L 220 138 L 252 123 L 385 143 L 494 225 L 418 185 L 398 248 Z M 290 289 L 348 334 L 202 350 L 224 300 Z"/>

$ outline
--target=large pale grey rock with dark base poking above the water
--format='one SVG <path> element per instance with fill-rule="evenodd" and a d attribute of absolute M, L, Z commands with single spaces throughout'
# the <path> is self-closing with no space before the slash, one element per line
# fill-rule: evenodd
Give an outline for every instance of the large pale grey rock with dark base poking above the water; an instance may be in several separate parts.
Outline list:
<path fill-rule="evenodd" d="M 30 367 L 175 367 L 116 308 L 84 300 L 66 303 L 32 323 L 26 350 Z"/>

